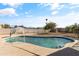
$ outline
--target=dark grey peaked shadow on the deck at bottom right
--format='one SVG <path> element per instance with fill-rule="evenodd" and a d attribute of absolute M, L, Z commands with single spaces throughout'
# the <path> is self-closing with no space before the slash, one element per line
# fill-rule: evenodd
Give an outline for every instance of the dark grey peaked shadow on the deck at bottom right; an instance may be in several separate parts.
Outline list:
<path fill-rule="evenodd" d="M 48 56 L 79 56 L 79 51 L 68 47 L 55 53 L 49 54 Z"/>

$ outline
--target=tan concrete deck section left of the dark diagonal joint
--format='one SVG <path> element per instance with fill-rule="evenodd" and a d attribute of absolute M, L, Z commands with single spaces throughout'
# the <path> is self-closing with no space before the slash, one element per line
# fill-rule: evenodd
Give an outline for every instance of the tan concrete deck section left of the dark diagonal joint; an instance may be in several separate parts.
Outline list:
<path fill-rule="evenodd" d="M 34 54 L 31 54 L 27 51 L 18 49 L 16 47 L 13 47 L 10 43 L 5 43 L 0 38 L 0 56 L 34 56 Z"/>

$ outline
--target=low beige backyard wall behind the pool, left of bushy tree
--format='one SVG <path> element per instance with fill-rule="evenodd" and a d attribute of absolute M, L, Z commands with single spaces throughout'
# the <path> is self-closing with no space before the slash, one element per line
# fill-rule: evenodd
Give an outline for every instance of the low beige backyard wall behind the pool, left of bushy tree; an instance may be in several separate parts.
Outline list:
<path fill-rule="evenodd" d="M 1 34 L 10 34 L 10 31 L 12 29 L 0 29 L 0 35 Z M 39 33 L 43 32 L 43 29 L 23 29 L 23 28 L 16 28 L 15 34 L 27 34 L 27 33 Z"/>

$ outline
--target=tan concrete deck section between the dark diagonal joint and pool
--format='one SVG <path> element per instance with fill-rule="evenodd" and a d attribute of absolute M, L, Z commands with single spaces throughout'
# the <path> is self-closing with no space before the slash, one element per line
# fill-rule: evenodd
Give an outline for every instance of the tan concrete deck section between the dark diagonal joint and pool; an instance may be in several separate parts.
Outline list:
<path fill-rule="evenodd" d="M 19 42 L 13 43 L 13 46 L 18 48 L 20 47 L 24 50 L 30 51 L 40 56 L 45 56 L 59 50 L 59 49 L 45 48 L 45 47 L 40 47 L 29 43 L 19 43 Z"/>

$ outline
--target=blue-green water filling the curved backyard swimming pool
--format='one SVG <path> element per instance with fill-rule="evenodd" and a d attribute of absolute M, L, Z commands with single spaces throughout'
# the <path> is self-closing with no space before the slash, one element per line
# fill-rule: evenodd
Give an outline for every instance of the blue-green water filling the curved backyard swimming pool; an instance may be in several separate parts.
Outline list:
<path fill-rule="evenodd" d="M 66 43 L 74 40 L 65 37 L 35 37 L 35 36 L 17 36 L 6 38 L 6 42 L 25 42 L 47 48 L 62 48 Z"/>

